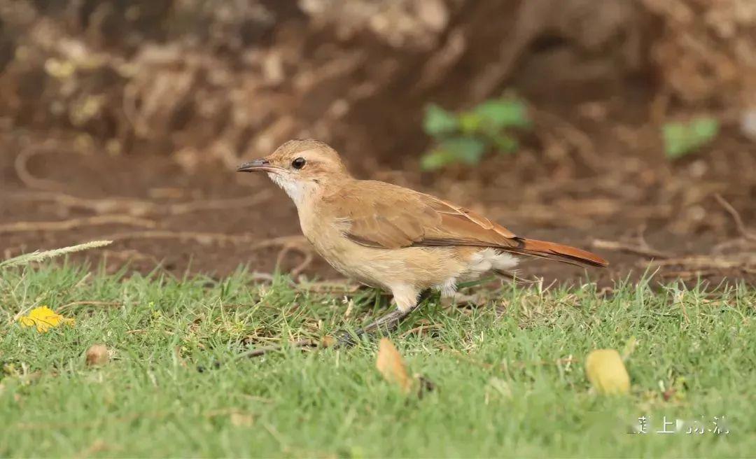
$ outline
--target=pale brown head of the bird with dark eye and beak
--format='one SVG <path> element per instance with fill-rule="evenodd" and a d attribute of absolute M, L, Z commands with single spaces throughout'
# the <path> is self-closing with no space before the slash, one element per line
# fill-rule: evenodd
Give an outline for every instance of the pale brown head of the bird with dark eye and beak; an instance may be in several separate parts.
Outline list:
<path fill-rule="evenodd" d="M 297 205 L 327 183 L 350 177 L 336 150 L 314 139 L 287 141 L 267 157 L 242 164 L 237 172 L 267 172 Z"/>

